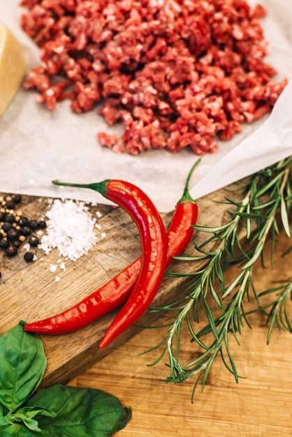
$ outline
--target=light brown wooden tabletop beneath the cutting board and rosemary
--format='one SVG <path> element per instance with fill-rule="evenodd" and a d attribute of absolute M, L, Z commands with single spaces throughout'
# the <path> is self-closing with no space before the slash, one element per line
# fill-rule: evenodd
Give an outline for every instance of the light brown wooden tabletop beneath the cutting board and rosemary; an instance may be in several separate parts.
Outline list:
<path fill-rule="evenodd" d="M 291 277 L 291 239 L 279 236 L 272 267 L 257 265 L 254 271 L 258 292 Z M 265 251 L 269 257 L 268 250 Z M 233 278 L 234 268 L 226 280 Z M 289 306 L 292 317 L 292 302 Z M 117 437 L 289 437 L 292 436 L 292 335 L 275 329 L 269 345 L 263 316 L 250 316 L 240 346 L 231 341 L 231 353 L 242 376 L 238 384 L 221 360 L 214 366 L 205 390 L 198 386 L 194 403 L 194 380 L 173 385 L 162 360 L 148 366 L 158 355 L 140 355 L 162 339 L 160 329 L 145 329 L 133 336 L 75 380 L 78 387 L 106 390 L 131 406 L 132 420 Z M 161 320 L 163 321 L 163 320 Z M 198 348 L 189 343 L 184 330 L 182 357 L 189 360 Z"/>

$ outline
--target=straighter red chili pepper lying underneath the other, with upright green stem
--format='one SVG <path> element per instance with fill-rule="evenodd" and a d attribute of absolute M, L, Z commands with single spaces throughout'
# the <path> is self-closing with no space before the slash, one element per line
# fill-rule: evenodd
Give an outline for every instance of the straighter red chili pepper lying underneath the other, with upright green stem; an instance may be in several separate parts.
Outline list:
<path fill-rule="evenodd" d="M 166 265 L 170 265 L 173 256 L 180 255 L 191 241 L 198 216 L 196 202 L 189 195 L 189 179 L 198 162 L 191 168 L 184 188 L 182 198 L 177 202 L 170 227 L 167 231 L 168 252 Z M 138 279 L 141 258 L 133 261 L 113 279 L 98 288 L 92 294 L 82 299 L 62 313 L 25 325 L 25 330 L 38 334 L 59 335 L 73 332 L 93 323 L 106 313 L 124 304 L 131 294 L 133 285 Z"/>

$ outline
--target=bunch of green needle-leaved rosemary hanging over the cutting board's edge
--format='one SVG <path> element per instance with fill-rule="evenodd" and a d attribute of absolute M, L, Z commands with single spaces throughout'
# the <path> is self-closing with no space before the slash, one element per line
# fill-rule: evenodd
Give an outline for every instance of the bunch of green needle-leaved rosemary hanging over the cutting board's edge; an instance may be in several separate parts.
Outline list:
<path fill-rule="evenodd" d="M 146 350 L 163 348 L 161 355 L 152 364 L 157 364 L 168 356 L 170 375 L 166 382 L 180 383 L 194 377 L 192 401 L 198 383 L 202 391 L 214 360 L 219 356 L 226 369 L 233 373 L 235 381 L 239 376 L 231 355 L 228 340 L 233 335 L 239 344 L 238 334 L 245 324 L 250 327 L 246 302 L 250 291 L 254 296 L 257 311 L 267 315 L 269 324 L 268 341 L 272 329 L 277 325 L 292 332 L 286 309 L 288 297 L 292 295 L 292 282 L 285 286 L 272 288 L 257 294 L 253 283 L 253 268 L 258 259 L 264 265 L 263 249 L 270 240 L 270 262 L 277 234 L 284 228 L 291 236 L 291 166 L 292 157 L 286 158 L 270 168 L 256 173 L 242 184 L 242 200 L 227 198 L 230 205 L 230 221 L 219 227 L 194 226 L 197 232 L 207 233 L 203 244 L 196 246 L 193 256 L 175 257 L 181 262 L 203 262 L 205 267 L 191 274 L 168 274 L 168 276 L 187 276 L 186 295 L 172 304 L 150 311 L 167 311 L 173 314 L 168 318 L 167 332 L 158 345 Z M 245 240 L 244 247 L 241 244 Z M 212 248 L 212 249 L 208 249 Z M 228 265 L 238 265 L 238 274 L 231 283 L 226 284 L 224 271 Z M 262 307 L 260 298 L 277 291 L 277 299 L 269 307 Z M 267 310 L 270 310 L 266 313 Z M 205 311 L 207 324 L 198 332 L 200 313 Z M 199 355 L 187 364 L 180 360 L 182 326 L 187 324 L 191 341 L 200 349 Z M 166 325 L 164 325 L 164 328 Z"/>

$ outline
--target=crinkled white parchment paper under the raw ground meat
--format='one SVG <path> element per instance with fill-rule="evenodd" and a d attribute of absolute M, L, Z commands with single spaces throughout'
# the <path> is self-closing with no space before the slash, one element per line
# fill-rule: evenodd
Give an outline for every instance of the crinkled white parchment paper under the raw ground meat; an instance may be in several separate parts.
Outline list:
<path fill-rule="evenodd" d="M 254 6 L 255 0 L 249 0 Z M 292 78 L 291 0 L 262 0 L 268 17 L 261 20 L 269 42 L 266 61 L 278 75 Z M 20 29 L 18 0 L 0 0 L 0 21 L 20 40 L 27 71 L 39 65 L 38 48 Z M 0 96 L 1 98 L 1 96 Z M 140 186 L 161 212 L 173 209 L 191 165 L 198 158 L 182 149 L 147 151 L 140 156 L 114 154 L 98 145 L 96 133 L 122 133 L 109 128 L 97 110 L 74 114 L 68 102 L 50 112 L 35 101 L 36 94 L 20 91 L 0 119 L 0 191 L 106 202 L 90 190 L 53 186 L 52 179 L 66 182 L 98 182 L 126 179 Z M 219 142 L 219 152 L 204 156 L 191 179 L 191 194 L 198 199 L 292 154 L 292 82 L 272 114 L 246 125 L 233 140 Z"/>

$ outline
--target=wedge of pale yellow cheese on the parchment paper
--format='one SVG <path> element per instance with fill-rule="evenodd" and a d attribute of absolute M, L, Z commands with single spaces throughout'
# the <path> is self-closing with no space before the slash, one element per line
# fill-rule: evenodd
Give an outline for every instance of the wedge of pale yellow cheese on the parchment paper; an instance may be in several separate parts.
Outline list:
<path fill-rule="evenodd" d="M 0 117 L 17 93 L 24 73 L 22 47 L 15 36 L 0 23 Z"/>

